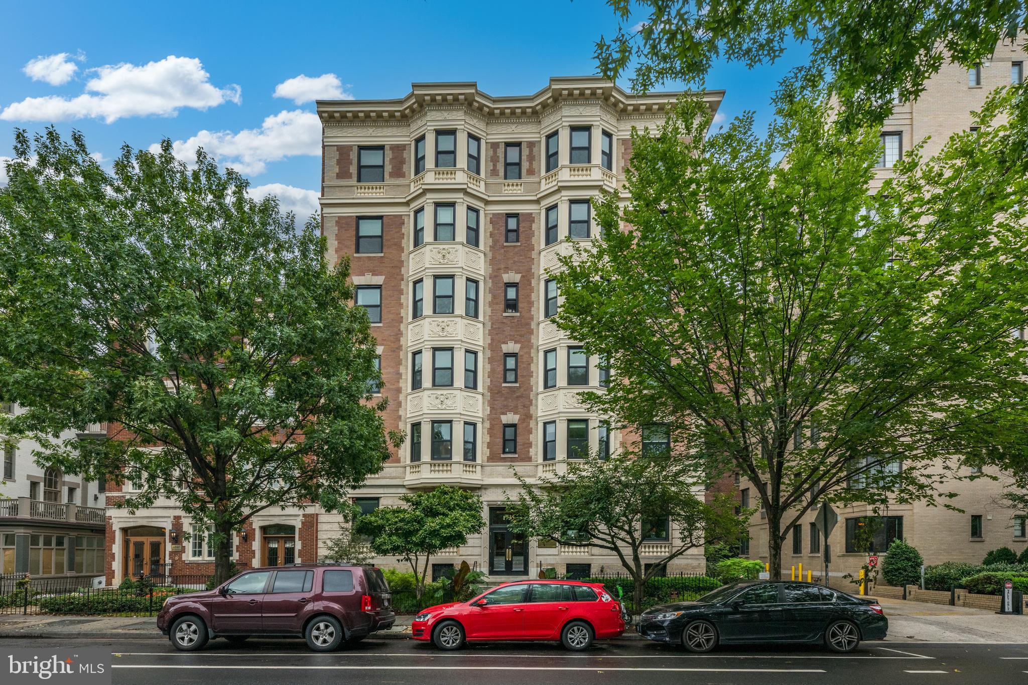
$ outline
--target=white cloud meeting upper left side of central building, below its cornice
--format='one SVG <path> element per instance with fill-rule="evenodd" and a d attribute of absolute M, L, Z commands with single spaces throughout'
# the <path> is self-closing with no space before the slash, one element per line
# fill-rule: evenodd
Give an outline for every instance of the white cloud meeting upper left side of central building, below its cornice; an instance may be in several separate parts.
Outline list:
<path fill-rule="evenodd" d="M 314 112 L 283 111 L 264 119 L 260 128 L 201 130 L 187 141 L 175 141 L 175 156 L 186 162 L 196 159 L 204 148 L 219 163 L 241 174 L 263 174 L 267 162 L 295 155 L 321 155 L 321 120 Z M 150 146 L 151 151 L 159 150 Z"/>

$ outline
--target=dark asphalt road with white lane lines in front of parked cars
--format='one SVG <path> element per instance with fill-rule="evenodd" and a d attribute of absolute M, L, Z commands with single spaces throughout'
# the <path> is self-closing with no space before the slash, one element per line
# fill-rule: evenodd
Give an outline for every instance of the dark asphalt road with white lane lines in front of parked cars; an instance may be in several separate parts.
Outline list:
<path fill-rule="evenodd" d="M 487 682 L 536 685 L 659 682 L 729 685 L 839 683 L 1028 682 L 1028 646 L 866 643 L 853 654 L 819 648 L 724 648 L 690 655 L 649 642 L 599 643 L 571 653 L 546 643 L 473 645 L 439 652 L 409 640 L 375 640 L 329 654 L 300 641 L 251 640 L 243 646 L 215 640 L 204 651 L 177 652 L 167 640 L 4 640 L 4 647 L 110 646 L 117 685 L 204 683 L 304 685 L 389 683 L 452 685 Z M 472 681 L 472 679 L 474 679 Z"/>

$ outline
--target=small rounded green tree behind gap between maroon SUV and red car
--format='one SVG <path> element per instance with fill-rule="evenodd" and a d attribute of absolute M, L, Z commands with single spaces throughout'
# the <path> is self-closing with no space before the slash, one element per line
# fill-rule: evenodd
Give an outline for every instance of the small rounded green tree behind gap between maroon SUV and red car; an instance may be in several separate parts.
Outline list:
<path fill-rule="evenodd" d="M 371 548 L 376 555 L 399 557 L 399 561 L 410 564 L 420 599 L 432 557 L 440 549 L 466 544 L 469 535 L 485 527 L 482 498 L 441 485 L 400 499 L 406 506 L 380 506 L 360 517 L 354 530 L 372 538 Z"/>

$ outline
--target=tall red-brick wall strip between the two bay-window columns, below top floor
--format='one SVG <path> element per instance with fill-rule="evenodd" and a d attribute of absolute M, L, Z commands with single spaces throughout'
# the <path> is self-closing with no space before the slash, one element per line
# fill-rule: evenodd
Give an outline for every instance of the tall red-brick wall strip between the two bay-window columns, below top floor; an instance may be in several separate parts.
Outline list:
<path fill-rule="evenodd" d="M 530 462 L 533 435 L 536 429 L 534 417 L 534 387 L 536 384 L 536 353 L 533 344 L 531 322 L 539 317 L 536 271 L 535 245 L 536 224 L 538 217 L 531 213 L 521 213 L 518 219 L 520 242 L 506 244 L 505 222 L 507 215 L 495 213 L 488 215 L 489 225 L 489 267 L 488 267 L 488 341 L 486 348 L 489 369 L 488 397 L 489 425 L 484 433 L 487 460 L 492 462 Z M 504 274 L 518 273 L 518 313 L 504 314 Z M 504 343 L 518 343 L 521 348 L 518 355 L 518 385 L 504 386 L 504 355 L 500 346 Z M 517 456 L 503 454 L 503 417 L 505 414 L 516 414 L 517 422 Z M 486 459 L 483 459 L 485 461 Z"/>

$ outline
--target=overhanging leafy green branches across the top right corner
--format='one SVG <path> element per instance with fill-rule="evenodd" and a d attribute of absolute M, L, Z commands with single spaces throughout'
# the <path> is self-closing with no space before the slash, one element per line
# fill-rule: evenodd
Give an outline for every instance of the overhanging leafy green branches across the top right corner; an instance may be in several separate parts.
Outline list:
<path fill-rule="evenodd" d="M 877 120 L 891 112 L 894 93 L 915 100 L 946 60 L 971 67 L 1028 31 L 1024 0 L 608 1 L 619 26 L 610 42 L 596 43 L 607 78 L 631 69 L 632 88 L 642 91 L 668 80 L 699 83 L 719 58 L 770 64 L 795 41 L 810 51 L 801 74 L 832 74 L 845 109 Z"/>

